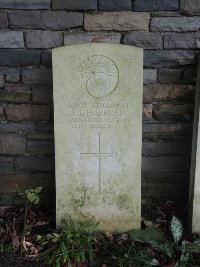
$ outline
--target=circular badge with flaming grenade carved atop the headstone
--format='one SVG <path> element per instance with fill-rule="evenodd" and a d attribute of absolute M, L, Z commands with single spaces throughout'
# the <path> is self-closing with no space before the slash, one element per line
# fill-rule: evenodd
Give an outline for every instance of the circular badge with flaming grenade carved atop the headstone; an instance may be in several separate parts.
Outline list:
<path fill-rule="evenodd" d="M 86 58 L 79 66 L 81 78 L 86 82 L 86 89 L 93 97 L 105 97 L 111 94 L 119 81 L 116 64 L 108 57 L 94 55 Z"/>

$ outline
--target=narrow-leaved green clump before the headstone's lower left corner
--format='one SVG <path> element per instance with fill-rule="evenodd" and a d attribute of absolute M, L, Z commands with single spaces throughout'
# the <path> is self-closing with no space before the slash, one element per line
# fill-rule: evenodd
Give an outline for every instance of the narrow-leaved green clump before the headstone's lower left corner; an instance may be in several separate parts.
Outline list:
<path fill-rule="evenodd" d="M 41 258 L 53 266 L 78 266 L 92 261 L 94 254 L 94 230 L 99 223 L 76 223 L 72 218 L 63 222 L 59 232 L 38 236 L 42 248 Z"/>

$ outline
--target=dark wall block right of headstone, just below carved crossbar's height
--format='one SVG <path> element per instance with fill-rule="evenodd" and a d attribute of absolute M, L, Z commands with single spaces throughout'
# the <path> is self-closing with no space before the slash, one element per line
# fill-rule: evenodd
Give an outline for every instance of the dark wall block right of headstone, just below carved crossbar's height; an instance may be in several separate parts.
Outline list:
<path fill-rule="evenodd" d="M 142 157 L 142 170 L 146 172 L 186 172 L 189 168 L 189 157 Z"/>

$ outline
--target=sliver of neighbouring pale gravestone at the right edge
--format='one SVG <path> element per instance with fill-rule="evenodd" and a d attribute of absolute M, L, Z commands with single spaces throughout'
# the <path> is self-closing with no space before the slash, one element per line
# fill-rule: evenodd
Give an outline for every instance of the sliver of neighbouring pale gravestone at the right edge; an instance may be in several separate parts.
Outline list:
<path fill-rule="evenodd" d="M 189 223 L 192 232 L 200 232 L 200 55 L 198 62 L 189 199 Z"/>

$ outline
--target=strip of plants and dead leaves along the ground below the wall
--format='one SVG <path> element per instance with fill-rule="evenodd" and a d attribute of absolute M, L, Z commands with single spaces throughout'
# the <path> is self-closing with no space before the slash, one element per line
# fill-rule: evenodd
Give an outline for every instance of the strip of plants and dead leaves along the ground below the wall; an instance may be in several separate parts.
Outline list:
<path fill-rule="evenodd" d="M 20 263 L 21 267 L 30 266 L 32 259 L 31 266 L 200 266 L 199 236 L 183 239 L 186 233 L 181 221 L 174 216 L 172 202 L 157 205 L 156 212 L 152 212 L 154 223 L 144 220 L 143 230 L 114 235 L 99 233 L 100 222 L 78 223 L 72 218 L 63 222 L 62 229 L 55 230 L 55 214 L 47 215 L 37 207 L 41 191 L 41 187 L 28 190 L 17 187 L 24 206 L 5 210 L 0 207 L 2 266 L 10 266 L 13 257 L 15 264 L 11 265 Z M 23 264 L 22 259 L 29 262 Z"/>

